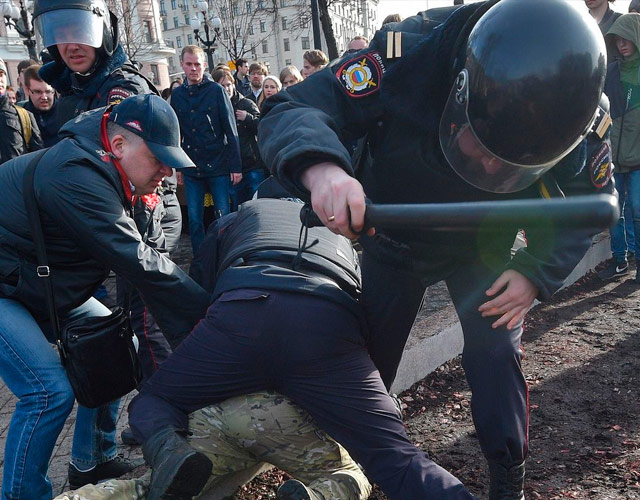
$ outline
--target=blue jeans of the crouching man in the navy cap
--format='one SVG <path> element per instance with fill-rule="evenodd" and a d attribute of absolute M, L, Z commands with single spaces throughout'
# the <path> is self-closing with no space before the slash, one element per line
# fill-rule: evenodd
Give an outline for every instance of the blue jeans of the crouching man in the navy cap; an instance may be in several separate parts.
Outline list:
<path fill-rule="evenodd" d="M 61 322 L 110 313 L 91 298 Z M 74 396 L 57 350 L 19 302 L 0 298 L 0 377 L 18 398 L 4 451 L 2 500 L 50 500 L 49 459 Z M 85 470 L 113 459 L 120 401 L 78 406 L 71 461 Z"/>

